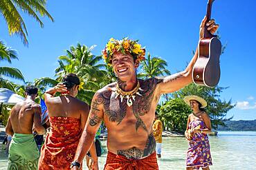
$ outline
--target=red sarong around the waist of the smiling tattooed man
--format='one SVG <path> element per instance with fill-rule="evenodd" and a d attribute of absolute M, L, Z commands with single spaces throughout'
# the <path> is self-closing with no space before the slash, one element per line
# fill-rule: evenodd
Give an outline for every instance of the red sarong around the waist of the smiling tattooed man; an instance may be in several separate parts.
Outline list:
<path fill-rule="evenodd" d="M 156 152 L 141 160 L 128 159 L 125 156 L 116 155 L 110 151 L 107 153 L 107 160 L 104 170 L 157 170 Z"/>

